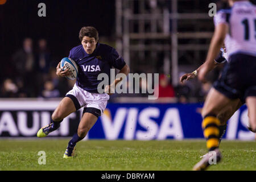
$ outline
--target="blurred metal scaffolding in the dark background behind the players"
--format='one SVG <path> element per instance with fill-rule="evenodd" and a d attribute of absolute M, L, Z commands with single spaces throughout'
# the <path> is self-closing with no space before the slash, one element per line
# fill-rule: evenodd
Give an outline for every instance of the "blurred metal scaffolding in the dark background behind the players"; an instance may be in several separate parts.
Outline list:
<path fill-rule="evenodd" d="M 158 6 L 158 3 L 167 2 L 168 6 Z M 180 1 L 179 1 L 180 2 Z M 199 0 L 186 1 L 196 3 L 200 8 Z M 116 5 L 116 47 L 122 53 L 126 63 L 130 65 L 133 52 L 138 52 L 139 59 L 146 59 L 149 54 L 152 59 L 148 64 L 155 66 L 156 52 L 163 52 L 163 73 L 170 74 L 172 84 L 175 86 L 179 80 L 179 51 L 194 51 L 196 60 L 201 60 L 200 53 L 197 51 L 207 51 L 208 42 L 212 37 L 212 21 L 204 22 L 207 31 L 200 31 L 197 24 L 193 31 L 187 31 L 184 27 L 184 20 L 211 20 L 207 12 L 205 13 L 178 13 L 177 0 L 115 0 Z M 147 5 L 147 6 L 146 6 Z M 137 11 L 137 12 L 135 12 Z M 202 23 L 203 24 L 203 23 Z M 145 28 L 148 26 L 148 28 Z M 136 27 L 136 28 L 135 28 Z M 136 31 L 135 31 L 136 29 Z M 183 30 L 183 31 L 180 31 Z M 157 40 L 163 40 L 159 42 Z M 180 39 L 188 39 L 189 42 L 180 44 Z M 205 43 L 194 43 L 191 40 L 205 39 Z M 137 41 L 133 41 L 137 40 Z M 148 44 L 146 42 L 151 42 Z M 147 51 L 147 52 L 146 52 Z M 137 59 L 135 59 L 137 60 Z M 138 63 L 135 64 L 138 67 Z M 133 64 L 131 64 L 133 69 Z M 156 70 L 155 70 L 156 71 Z"/>

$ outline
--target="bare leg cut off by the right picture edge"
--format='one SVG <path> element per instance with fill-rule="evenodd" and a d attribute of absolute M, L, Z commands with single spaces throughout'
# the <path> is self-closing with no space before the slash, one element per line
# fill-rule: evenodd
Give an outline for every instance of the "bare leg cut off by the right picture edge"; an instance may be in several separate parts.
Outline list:
<path fill-rule="evenodd" d="M 246 98 L 246 105 L 248 107 L 250 130 L 256 133 L 256 97 L 249 96 Z"/>

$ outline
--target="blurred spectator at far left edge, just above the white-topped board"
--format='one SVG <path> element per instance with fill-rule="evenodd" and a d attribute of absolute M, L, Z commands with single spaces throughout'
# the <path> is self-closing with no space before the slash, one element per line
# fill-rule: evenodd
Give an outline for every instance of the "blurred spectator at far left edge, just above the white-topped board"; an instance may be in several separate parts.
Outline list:
<path fill-rule="evenodd" d="M 1 86 L 0 97 L 17 97 L 18 86 L 16 86 L 10 78 L 6 78 Z"/>

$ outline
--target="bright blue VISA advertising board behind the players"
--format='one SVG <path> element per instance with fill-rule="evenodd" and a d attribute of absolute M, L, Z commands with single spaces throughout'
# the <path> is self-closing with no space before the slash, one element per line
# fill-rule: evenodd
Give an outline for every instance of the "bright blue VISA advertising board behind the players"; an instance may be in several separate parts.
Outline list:
<path fill-rule="evenodd" d="M 89 131 L 90 139 L 163 140 L 204 138 L 201 104 L 109 104 Z M 247 108 L 229 119 L 224 138 L 254 139 L 247 130 Z"/>

